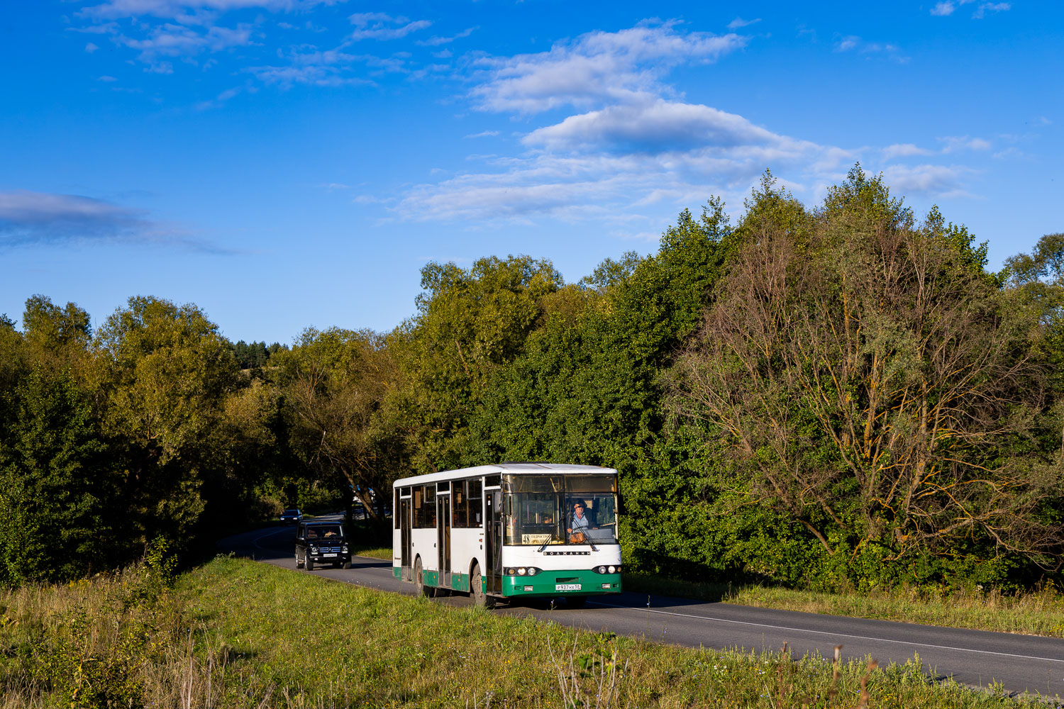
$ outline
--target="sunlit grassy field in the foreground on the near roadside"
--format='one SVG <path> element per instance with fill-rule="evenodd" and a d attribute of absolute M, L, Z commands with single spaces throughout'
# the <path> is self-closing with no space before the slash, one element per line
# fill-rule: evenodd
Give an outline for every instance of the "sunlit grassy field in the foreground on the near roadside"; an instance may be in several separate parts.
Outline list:
<path fill-rule="evenodd" d="M 239 559 L 162 580 L 0 592 L 0 707 L 1064 706 L 915 664 L 658 645 Z"/>

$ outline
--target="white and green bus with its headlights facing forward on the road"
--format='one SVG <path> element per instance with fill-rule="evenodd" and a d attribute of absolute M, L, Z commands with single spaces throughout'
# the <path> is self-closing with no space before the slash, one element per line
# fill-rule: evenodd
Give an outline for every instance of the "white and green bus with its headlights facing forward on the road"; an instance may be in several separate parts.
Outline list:
<path fill-rule="evenodd" d="M 500 598 L 620 593 L 617 471 L 503 462 L 396 480 L 393 573 L 418 593 Z"/>

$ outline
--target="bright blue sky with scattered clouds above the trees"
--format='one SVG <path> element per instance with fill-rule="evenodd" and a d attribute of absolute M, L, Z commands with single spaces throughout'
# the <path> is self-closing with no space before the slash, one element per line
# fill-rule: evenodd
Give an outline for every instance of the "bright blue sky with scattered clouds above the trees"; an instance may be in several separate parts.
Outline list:
<path fill-rule="evenodd" d="M 1064 3 L 802 4 L 13 3 L 0 313 L 389 330 L 428 260 L 572 282 L 766 168 L 815 204 L 858 161 L 995 267 L 1064 231 Z"/>

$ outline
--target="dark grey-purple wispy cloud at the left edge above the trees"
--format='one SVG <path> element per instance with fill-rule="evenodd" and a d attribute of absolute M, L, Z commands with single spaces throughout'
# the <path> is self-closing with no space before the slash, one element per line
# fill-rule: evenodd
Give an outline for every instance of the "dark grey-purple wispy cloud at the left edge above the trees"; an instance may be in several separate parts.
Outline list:
<path fill-rule="evenodd" d="M 134 209 L 81 195 L 0 192 L 0 248 L 39 243 L 139 242 L 229 253 Z"/>

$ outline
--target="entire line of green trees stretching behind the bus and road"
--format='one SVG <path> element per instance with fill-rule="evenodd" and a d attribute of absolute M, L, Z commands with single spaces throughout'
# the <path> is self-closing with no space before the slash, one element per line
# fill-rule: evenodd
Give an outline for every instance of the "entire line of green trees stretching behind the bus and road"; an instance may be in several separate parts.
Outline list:
<path fill-rule="evenodd" d="M 860 166 L 766 172 L 656 253 L 430 263 L 388 333 L 232 344 L 132 298 L 0 322 L 0 581 L 113 568 L 281 505 L 499 460 L 620 472 L 629 569 L 841 589 L 1061 579 L 1064 235 L 1003 270 Z"/>

